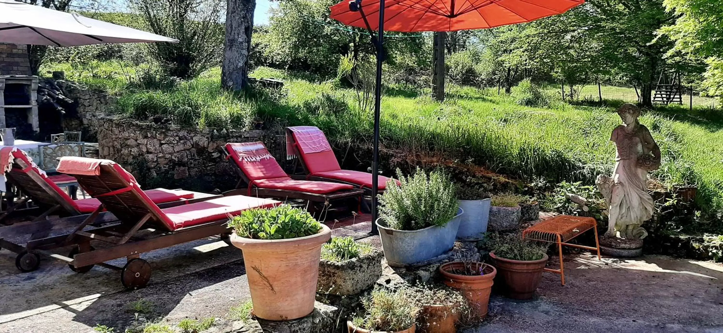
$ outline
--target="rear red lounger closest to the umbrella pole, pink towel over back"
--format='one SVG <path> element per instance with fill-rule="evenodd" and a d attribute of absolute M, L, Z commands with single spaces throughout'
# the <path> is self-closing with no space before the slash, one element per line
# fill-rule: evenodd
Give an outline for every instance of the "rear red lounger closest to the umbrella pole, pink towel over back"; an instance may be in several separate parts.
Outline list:
<path fill-rule="evenodd" d="M 310 181 L 346 183 L 372 193 L 372 174 L 342 170 L 324 132 L 315 126 L 286 127 L 286 155 L 290 159 L 300 157 L 301 167 Z M 389 179 L 379 176 L 379 191 L 387 188 Z"/>

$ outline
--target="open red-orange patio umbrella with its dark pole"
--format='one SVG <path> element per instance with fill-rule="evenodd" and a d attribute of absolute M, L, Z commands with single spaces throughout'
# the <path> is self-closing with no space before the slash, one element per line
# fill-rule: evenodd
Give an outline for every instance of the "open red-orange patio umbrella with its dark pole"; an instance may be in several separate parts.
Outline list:
<path fill-rule="evenodd" d="M 331 7 L 331 18 L 352 27 L 377 30 L 377 84 L 372 163 L 372 233 L 377 233 L 379 119 L 382 99 L 384 31 L 413 33 L 488 29 L 531 22 L 583 4 L 585 0 L 347 0 Z M 370 31 L 371 33 L 371 31 Z M 372 34 L 373 35 L 373 34 Z"/>

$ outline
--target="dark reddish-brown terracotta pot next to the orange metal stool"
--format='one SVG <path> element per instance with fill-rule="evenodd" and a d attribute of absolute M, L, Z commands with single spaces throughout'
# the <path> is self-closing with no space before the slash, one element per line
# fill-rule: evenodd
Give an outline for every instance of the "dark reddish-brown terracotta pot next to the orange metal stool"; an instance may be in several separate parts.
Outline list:
<path fill-rule="evenodd" d="M 517 300 L 526 300 L 535 295 L 542 280 L 542 271 L 547 264 L 547 254 L 534 261 L 510 260 L 489 254 L 497 268 L 496 288 L 503 295 Z"/>

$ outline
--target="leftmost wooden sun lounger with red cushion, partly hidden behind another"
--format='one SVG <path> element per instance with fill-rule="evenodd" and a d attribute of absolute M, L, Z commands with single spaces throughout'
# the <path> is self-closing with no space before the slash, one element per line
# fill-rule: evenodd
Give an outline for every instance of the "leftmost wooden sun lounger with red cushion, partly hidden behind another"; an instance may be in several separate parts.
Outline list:
<path fill-rule="evenodd" d="M 6 248 L 17 254 L 15 258 L 15 266 L 21 272 L 32 272 L 38 269 L 40 265 L 40 256 L 38 253 L 28 251 L 22 246 L 25 241 L 46 238 L 54 232 L 54 230 L 62 230 L 64 228 L 72 228 L 80 224 L 87 216 L 87 210 L 81 209 L 75 202 L 92 202 L 89 199 L 74 201 L 65 194 L 64 191 L 54 186 L 53 183 L 47 181 L 41 173 L 33 170 L 33 163 L 28 160 L 25 155 L 17 155 L 13 160 L 13 170 L 7 173 L 7 178 L 14 183 L 25 194 L 18 202 L 9 207 L 7 212 L 0 215 L 0 220 L 10 217 L 28 216 L 32 220 L 16 223 L 14 225 L 0 226 L 0 248 Z M 150 190 L 159 191 L 159 190 Z M 160 191 L 159 191 L 160 192 Z M 205 194 L 200 192 L 189 192 L 192 198 L 173 199 L 166 202 L 159 200 L 161 207 L 174 207 L 180 204 L 188 204 L 192 202 L 201 202 L 221 195 Z M 33 209 L 15 209 L 20 204 L 24 204 L 27 200 L 32 200 L 37 206 Z M 87 204 L 83 206 L 87 208 Z M 81 210 L 85 210 L 81 212 Z M 28 215 L 28 211 L 33 215 Z M 23 214 L 23 215 L 20 215 Z M 49 215 L 58 215 L 60 218 L 47 220 Z M 80 218 L 79 218 L 80 217 Z M 100 212 L 98 220 L 94 224 L 103 224 L 116 221 L 116 217 L 109 212 Z M 18 241 L 22 240 L 22 241 Z M 48 248 L 49 249 L 49 248 Z"/>

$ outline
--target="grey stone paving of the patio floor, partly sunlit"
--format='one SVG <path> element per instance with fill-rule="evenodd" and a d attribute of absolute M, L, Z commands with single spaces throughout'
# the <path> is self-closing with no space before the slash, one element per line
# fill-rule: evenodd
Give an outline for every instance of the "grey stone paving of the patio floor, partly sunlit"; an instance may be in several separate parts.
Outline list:
<path fill-rule="evenodd" d="M 368 215 L 329 225 L 335 235 L 379 246 L 377 237 L 365 237 Z M 143 258 L 153 267 L 150 284 L 126 291 L 119 273 L 102 267 L 76 274 L 44 259 L 38 271 L 20 273 L 14 254 L 0 250 L 0 332 L 93 332 L 96 324 L 123 332 L 137 300 L 149 305 L 142 316 L 168 324 L 213 316 L 221 319 L 213 332 L 248 330 L 223 321 L 249 299 L 241 251 L 209 238 Z M 721 264 L 666 256 L 597 261 L 582 254 L 565 257 L 565 268 L 567 284 L 545 273 L 534 300 L 493 296 L 485 323 L 465 332 L 723 332 Z"/>

